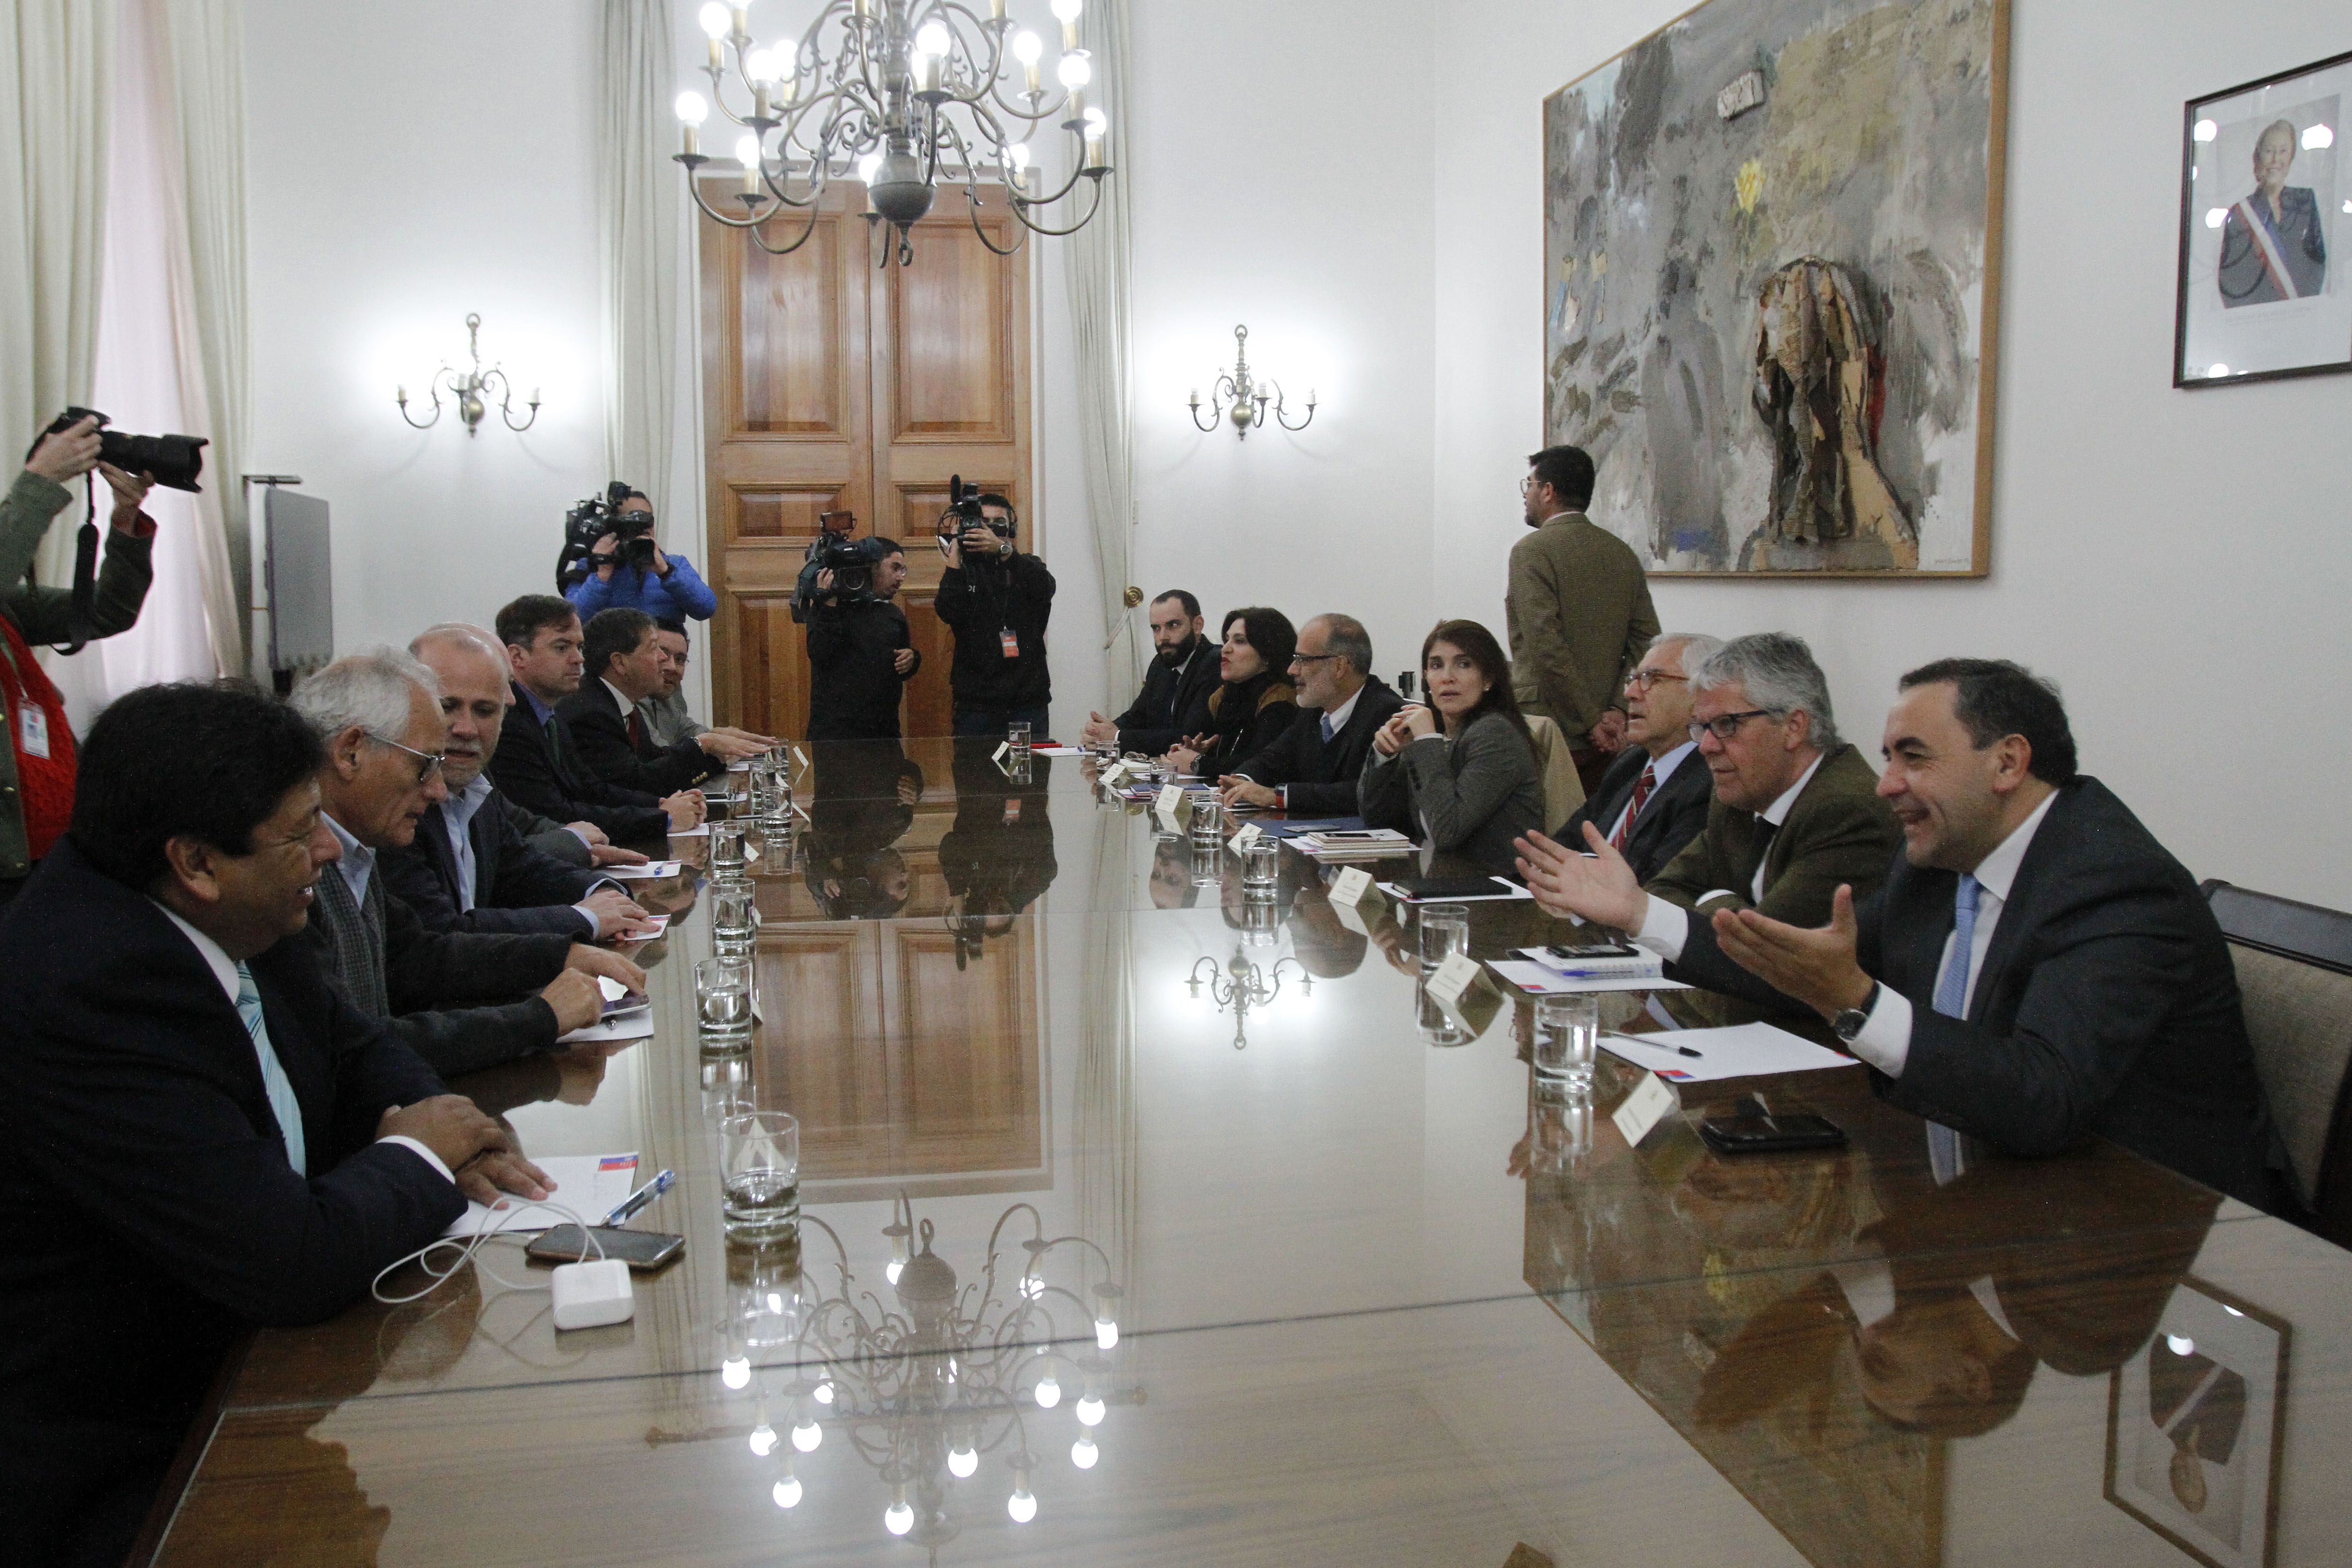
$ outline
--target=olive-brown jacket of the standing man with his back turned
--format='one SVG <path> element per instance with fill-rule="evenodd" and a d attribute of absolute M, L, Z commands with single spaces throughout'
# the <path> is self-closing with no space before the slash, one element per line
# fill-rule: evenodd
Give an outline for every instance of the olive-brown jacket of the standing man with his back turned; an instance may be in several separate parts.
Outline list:
<path fill-rule="evenodd" d="M 1510 548 L 1503 604 L 1519 712 L 1585 745 L 1602 715 L 1625 705 L 1625 677 L 1658 635 L 1642 559 L 1583 512 L 1559 512 Z"/>

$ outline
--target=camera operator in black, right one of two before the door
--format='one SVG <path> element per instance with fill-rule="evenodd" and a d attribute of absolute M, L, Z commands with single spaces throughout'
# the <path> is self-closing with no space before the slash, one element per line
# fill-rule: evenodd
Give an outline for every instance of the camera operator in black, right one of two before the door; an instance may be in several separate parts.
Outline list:
<path fill-rule="evenodd" d="M 948 569 L 938 578 L 938 618 L 955 632 L 955 733 L 1002 736 L 1007 724 L 1047 733 L 1054 682 L 1044 668 L 1044 623 L 1054 614 L 1054 574 L 1014 548 L 1014 508 L 997 494 L 950 505 L 941 517 Z M 948 543 L 953 529 L 953 543 Z"/>

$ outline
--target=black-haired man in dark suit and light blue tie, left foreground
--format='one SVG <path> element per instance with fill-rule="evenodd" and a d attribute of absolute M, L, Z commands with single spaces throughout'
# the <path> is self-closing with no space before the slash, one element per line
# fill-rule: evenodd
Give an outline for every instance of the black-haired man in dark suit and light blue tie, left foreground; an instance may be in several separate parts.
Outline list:
<path fill-rule="evenodd" d="M 296 940 L 318 764 L 254 691 L 132 691 L 0 922 L 9 1561 L 120 1563 L 238 1333 L 341 1312 L 468 1194 L 548 1192 Z"/>

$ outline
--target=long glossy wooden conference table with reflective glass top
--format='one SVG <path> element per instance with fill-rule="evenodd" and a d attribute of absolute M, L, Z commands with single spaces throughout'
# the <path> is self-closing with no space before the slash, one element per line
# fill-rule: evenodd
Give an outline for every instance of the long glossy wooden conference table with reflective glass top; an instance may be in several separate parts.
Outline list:
<path fill-rule="evenodd" d="M 1294 851 L 1244 898 L 988 750 L 814 759 L 748 1048 L 699 1039 L 687 875 L 652 1039 L 461 1084 L 677 1171 L 633 1321 L 463 1269 L 261 1333 L 155 1561 L 2352 1561 L 2336 1246 L 2110 1145 L 1938 1187 L 1860 1067 L 1628 1147 L 1637 1074 L 1538 1093 L 1526 1001 L 1437 1009 L 1409 910 Z M 1559 931 L 1472 905 L 1477 957 Z M 1736 1093 L 1851 1145 L 1715 1157 Z M 797 1244 L 722 1237 L 743 1107 L 802 1124 Z"/>

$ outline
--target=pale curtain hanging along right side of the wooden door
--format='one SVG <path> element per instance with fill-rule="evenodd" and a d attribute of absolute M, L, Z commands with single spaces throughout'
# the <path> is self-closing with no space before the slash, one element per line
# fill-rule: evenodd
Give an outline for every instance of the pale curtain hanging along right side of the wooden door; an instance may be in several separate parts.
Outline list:
<path fill-rule="evenodd" d="M 1117 703 L 1136 686 L 1134 616 L 1124 602 L 1136 527 L 1134 393 L 1127 381 L 1134 228 L 1127 216 L 1127 179 L 1117 172 L 1134 150 L 1127 134 L 1134 94 L 1127 0 L 1094 0 L 1080 16 L 1080 28 L 1094 52 L 1101 108 L 1110 118 L 1112 174 L 1103 179 L 1103 209 L 1068 240 L 1065 270 L 1070 336 L 1077 343 L 1077 440 L 1087 505 L 1094 512 L 1094 559 L 1103 578 L 1105 689 Z"/>

